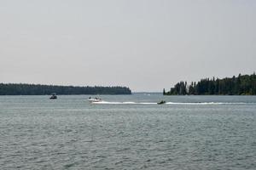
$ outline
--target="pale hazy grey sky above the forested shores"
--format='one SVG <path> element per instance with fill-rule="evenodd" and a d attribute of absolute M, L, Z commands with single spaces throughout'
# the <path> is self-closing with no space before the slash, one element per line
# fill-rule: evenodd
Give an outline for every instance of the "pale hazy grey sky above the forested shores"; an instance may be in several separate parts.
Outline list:
<path fill-rule="evenodd" d="M 253 71 L 254 0 L 0 0 L 0 82 L 161 92 Z"/>

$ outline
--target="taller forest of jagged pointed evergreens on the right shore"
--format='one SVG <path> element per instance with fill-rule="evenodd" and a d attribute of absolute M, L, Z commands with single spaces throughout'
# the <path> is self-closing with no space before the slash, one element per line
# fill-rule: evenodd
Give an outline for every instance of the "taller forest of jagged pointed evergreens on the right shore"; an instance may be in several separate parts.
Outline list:
<path fill-rule="evenodd" d="M 256 75 L 242 75 L 223 79 L 204 78 L 199 82 L 177 82 L 164 95 L 256 95 Z"/>

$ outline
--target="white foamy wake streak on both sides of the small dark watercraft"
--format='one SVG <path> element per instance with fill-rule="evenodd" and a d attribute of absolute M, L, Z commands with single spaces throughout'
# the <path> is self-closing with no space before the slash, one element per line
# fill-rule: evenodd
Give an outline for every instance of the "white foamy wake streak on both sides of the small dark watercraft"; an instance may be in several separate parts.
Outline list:
<path fill-rule="evenodd" d="M 92 102 L 92 104 L 97 105 L 157 105 L 157 102 L 115 102 L 115 101 L 99 101 Z M 229 102 L 166 102 L 164 105 L 246 105 L 247 103 L 237 102 L 237 103 L 229 103 Z"/>

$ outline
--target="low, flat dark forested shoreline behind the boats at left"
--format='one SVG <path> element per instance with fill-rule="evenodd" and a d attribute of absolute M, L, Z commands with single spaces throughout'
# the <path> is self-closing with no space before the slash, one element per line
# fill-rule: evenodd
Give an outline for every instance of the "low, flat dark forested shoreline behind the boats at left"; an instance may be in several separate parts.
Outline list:
<path fill-rule="evenodd" d="M 131 94 L 125 87 L 74 87 L 23 83 L 0 83 L 0 95 L 49 95 L 49 94 Z"/>

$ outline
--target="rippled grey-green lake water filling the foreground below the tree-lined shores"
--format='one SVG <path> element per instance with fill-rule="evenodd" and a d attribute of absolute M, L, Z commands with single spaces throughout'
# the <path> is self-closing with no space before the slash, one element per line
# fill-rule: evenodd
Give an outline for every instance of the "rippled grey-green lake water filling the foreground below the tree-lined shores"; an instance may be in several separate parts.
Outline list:
<path fill-rule="evenodd" d="M 88 97 L 0 96 L 0 169 L 256 169 L 256 96 Z"/>

